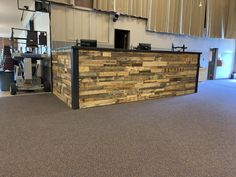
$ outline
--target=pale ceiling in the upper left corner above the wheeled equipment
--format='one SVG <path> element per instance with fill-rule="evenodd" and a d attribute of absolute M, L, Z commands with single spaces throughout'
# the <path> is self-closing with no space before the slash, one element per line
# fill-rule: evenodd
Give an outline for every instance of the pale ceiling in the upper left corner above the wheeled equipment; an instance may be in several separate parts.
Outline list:
<path fill-rule="evenodd" d="M 32 0 L 20 0 L 20 7 Z M 17 0 L 0 0 L 0 37 L 10 37 L 12 27 L 22 27 L 22 11 L 17 8 Z"/>

